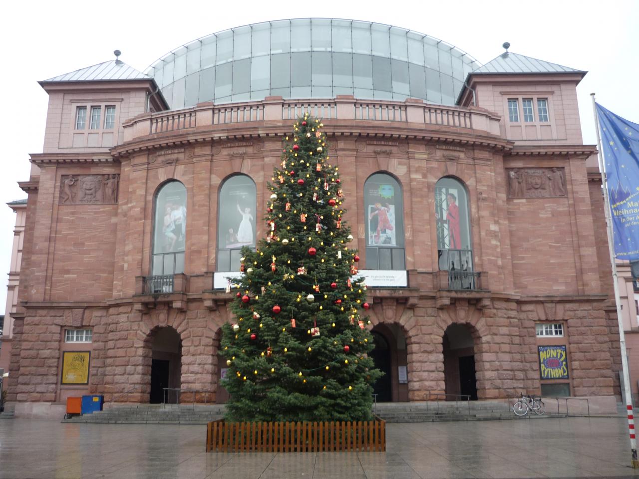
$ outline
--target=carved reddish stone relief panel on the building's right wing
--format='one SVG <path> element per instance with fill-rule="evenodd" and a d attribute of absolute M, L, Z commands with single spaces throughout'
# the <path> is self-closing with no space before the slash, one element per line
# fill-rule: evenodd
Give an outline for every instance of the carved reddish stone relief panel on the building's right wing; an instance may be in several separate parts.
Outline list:
<path fill-rule="evenodd" d="M 562 198 L 566 196 L 566 173 L 556 168 L 506 169 L 509 198 Z"/>

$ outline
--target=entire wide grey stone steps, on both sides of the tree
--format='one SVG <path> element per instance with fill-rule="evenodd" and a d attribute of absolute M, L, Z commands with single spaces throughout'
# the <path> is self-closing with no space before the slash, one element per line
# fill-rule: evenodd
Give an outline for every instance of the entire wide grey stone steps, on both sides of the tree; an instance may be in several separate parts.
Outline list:
<path fill-rule="evenodd" d="M 481 421 L 520 419 L 512 413 L 512 402 L 385 402 L 374 407 L 374 413 L 388 423 Z M 65 419 L 65 423 L 107 424 L 206 424 L 224 416 L 224 404 L 175 405 L 135 404 L 114 406 L 84 416 Z M 543 416 L 528 414 L 523 418 L 565 417 L 566 414 L 546 412 Z"/>

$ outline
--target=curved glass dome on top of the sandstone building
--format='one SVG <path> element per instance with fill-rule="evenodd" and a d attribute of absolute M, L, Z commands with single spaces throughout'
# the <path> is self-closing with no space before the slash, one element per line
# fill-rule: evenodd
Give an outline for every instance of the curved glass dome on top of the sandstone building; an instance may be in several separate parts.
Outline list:
<path fill-rule="evenodd" d="M 263 22 L 213 33 L 150 66 L 171 109 L 284 98 L 421 98 L 454 105 L 475 59 L 403 28 L 338 19 Z"/>

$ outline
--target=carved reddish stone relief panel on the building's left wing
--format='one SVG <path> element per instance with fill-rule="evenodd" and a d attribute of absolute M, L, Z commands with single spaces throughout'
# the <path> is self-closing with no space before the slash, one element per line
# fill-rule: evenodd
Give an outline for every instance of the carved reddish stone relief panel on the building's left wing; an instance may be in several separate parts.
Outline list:
<path fill-rule="evenodd" d="M 59 204 L 116 204 L 119 174 L 63 174 Z"/>

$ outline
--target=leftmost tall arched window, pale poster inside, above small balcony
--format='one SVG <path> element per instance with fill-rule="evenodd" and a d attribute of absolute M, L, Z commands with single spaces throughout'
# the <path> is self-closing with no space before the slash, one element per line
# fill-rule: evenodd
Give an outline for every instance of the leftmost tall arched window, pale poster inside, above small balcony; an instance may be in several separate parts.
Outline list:
<path fill-rule="evenodd" d="M 180 181 L 164 183 L 155 195 L 151 274 L 184 272 L 187 232 L 187 188 Z"/>

